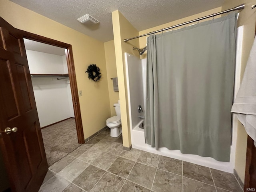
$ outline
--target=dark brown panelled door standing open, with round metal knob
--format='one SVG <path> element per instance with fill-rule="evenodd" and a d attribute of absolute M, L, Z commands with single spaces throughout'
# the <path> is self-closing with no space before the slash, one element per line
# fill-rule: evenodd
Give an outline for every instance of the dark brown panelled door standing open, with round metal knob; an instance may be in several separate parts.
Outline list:
<path fill-rule="evenodd" d="M 6 128 L 10 128 L 10 134 L 6 134 Z M 12 191 L 37 192 L 48 165 L 22 31 L 12 27 L 2 18 L 0 133 L 0 147 Z"/>

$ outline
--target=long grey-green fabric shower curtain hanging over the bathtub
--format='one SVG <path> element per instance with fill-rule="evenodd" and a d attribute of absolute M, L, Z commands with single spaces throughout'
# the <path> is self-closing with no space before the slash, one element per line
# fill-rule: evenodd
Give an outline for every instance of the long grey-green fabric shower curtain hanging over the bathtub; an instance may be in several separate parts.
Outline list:
<path fill-rule="evenodd" d="M 236 14 L 147 39 L 145 139 L 229 162 Z"/>

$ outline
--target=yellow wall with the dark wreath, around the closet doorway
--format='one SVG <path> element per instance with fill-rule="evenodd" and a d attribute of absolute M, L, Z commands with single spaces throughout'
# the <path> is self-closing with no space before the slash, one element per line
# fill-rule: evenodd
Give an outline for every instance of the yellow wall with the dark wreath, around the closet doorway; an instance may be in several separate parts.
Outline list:
<path fill-rule="evenodd" d="M 8 0 L 0 0 L 0 5 L 0 16 L 14 27 L 72 45 L 77 86 L 83 93 L 79 101 L 84 137 L 104 128 L 110 116 L 104 43 Z M 98 83 L 90 81 L 85 73 L 92 63 L 101 69 Z"/>

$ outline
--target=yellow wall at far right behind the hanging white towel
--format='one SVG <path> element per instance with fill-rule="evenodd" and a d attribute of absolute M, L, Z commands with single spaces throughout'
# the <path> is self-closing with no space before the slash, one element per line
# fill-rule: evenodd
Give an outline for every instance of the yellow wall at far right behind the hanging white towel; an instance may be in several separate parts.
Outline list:
<path fill-rule="evenodd" d="M 237 26 L 244 26 L 244 35 L 242 42 L 242 64 L 241 64 L 241 80 L 244 74 L 246 62 L 252 48 L 255 32 L 255 9 L 251 9 L 251 6 L 255 4 L 255 0 L 225 0 L 222 10 L 233 8 L 240 4 L 245 3 L 244 10 L 240 11 L 238 17 Z M 236 117 L 235 117 L 236 118 Z M 237 119 L 236 119 L 237 120 Z M 236 158 L 235 158 L 235 170 L 244 182 L 245 164 L 246 164 L 246 146 L 247 146 L 247 134 L 242 126 L 238 124 L 237 128 L 237 140 L 236 140 Z"/>

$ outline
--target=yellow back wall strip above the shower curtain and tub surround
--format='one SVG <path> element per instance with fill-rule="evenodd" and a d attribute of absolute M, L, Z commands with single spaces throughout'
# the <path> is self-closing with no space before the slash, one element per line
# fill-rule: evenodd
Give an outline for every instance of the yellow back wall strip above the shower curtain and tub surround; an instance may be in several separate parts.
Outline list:
<path fill-rule="evenodd" d="M 146 33 L 152 32 L 152 31 L 157 31 L 157 30 L 167 28 L 167 27 L 170 27 L 170 26 L 178 25 L 178 24 L 181 24 L 181 23 L 184 23 L 184 22 L 188 22 L 188 21 L 200 18 L 200 17 L 204 17 L 204 16 L 207 16 L 207 15 L 210 15 L 210 14 L 213 14 L 213 13 L 220 12 L 220 11 L 221 11 L 221 7 L 211 9 L 211 10 L 208 10 L 208 11 L 205 11 L 205 12 L 202 12 L 202 13 L 198 13 L 198 14 L 195 14 L 195 15 L 192 15 L 192 16 L 189 16 L 189 17 L 185 17 L 185 18 L 182 18 L 182 19 L 179 19 L 179 20 L 175 20 L 175 21 L 172 21 L 172 22 L 169 22 L 169 23 L 166 23 L 166 24 L 162 24 L 162 25 L 159 25 L 159 26 L 155 26 L 155 27 L 140 31 L 139 35 L 143 35 L 143 34 L 146 34 Z M 220 16 L 216 16 L 215 18 L 218 18 L 218 17 L 220 17 Z M 212 18 L 209 18 L 208 20 L 211 20 L 211 19 Z M 206 21 L 206 20 L 202 20 L 202 22 L 204 22 L 204 21 Z M 191 25 L 191 24 L 189 24 L 189 25 Z M 180 27 L 180 28 L 182 28 L 182 27 Z M 178 29 L 178 28 L 174 28 L 174 30 L 176 30 L 176 29 Z M 164 32 L 166 32 L 166 31 L 164 31 Z M 140 39 L 140 48 L 144 48 L 146 46 L 146 43 L 147 43 L 146 38 L 147 38 L 147 36 L 139 38 Z M 142 56 L 140 56 L 140 58 L 141 59 L 146 58 L 147 57 L 146 53 L 147 52 L 145 52 Z"/>

